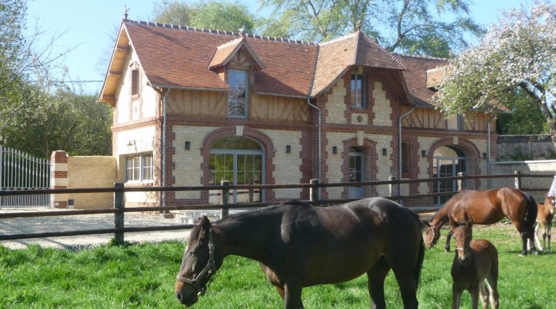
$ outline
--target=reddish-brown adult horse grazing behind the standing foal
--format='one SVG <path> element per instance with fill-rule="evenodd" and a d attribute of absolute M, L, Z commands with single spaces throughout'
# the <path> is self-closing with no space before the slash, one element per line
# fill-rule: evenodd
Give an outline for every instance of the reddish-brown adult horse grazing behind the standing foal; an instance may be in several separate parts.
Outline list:
<path fill-rule="evenodd" d="M 512 188 L 459 192 L 432 216 L 426 228 L 425 244 L 429 248 L 436 245 L 440 237 L 440 229 L 448 219 L 459 221 L 463 215 L 471 216 L 475 224 L 482 225 L 497 223 L 507 217 L 522 237 L 521 254 L 527 254 L 528 241 L 531 253 L 536 253 L 533 235 L 537 205 L 531 195 Z M 451 236 L 450 231 L 446 237 L 446 252 L 450 251 Z"/>

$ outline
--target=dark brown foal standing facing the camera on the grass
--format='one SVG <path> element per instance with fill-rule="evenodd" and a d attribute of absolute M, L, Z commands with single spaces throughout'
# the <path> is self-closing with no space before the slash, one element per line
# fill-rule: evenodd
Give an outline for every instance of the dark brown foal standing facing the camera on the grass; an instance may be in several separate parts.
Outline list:
<path fill-rule="evenodd" d="M 486 239 L 472 240 L 473 218 L 457 222 L 450 219 L 455 238 L 452 263 L 452 309 L 460 308 L 461 294 L 471 294 L 472 307 L 479 306 L 479 291 L 483 309 L 498 309 L 498 251 Z"/>

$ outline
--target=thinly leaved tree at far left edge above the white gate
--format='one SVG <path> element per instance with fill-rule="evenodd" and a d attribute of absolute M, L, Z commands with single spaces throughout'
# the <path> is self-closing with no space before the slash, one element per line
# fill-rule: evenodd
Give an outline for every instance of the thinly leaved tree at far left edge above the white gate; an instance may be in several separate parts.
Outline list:
<path fill-rule="evenodd" d="M 43 112 L 36 105 L 41 87 L 53 83 L 53 72 L 62 67 L 65 55 L 52 54 L 59 35 L 36 48 L 44 33 L 35 28 L 24 34 L 26 9 L 25 0 L 0 0 L 0 143 L 7 146 L 22 134 L 29 117 Z"/>

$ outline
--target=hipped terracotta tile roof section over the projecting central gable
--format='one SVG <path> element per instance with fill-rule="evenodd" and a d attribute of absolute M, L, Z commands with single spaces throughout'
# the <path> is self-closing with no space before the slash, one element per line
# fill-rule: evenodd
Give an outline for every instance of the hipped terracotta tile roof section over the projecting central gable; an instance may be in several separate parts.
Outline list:
<path fill-rule="evenodd" d="M 321 95 L 351 65 L 406 70 L 399 60 L 375 41 L 370 41 L 363 32 L 354 32 L 320 45 L 311 96 Z"/>

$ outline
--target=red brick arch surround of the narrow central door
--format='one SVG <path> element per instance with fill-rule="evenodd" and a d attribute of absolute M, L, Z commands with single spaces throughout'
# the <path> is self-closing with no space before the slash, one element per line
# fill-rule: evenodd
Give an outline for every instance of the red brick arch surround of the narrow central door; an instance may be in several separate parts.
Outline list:
<path fill-rule="evenodd" d="M 377 180 L 376 174 L 378 171 L 377 167 L 377 160 L 371 158 L 377 158 L 377 142 L 374 140 L 370 140 L 369 138 L 363 138 L 363 145 L 358 145 L 357 138 L 349 138 L 344 140 L 344 149 L 342 150 L 342 182 L 347 183 L 349 182 L 349 148 L 350 147 L 360 147 L 363 148 L 365 154 L 365 181 L 373 181 Z M 371 188 L 366 188 L 365 190 L 366 196 L 376 196 L 377 190 L 376 187 L 373 186 Z M 342 191 L 342 198 L 347 199 L 349 197 L 349 190 L 348 188 L 344 188 Z"/>

